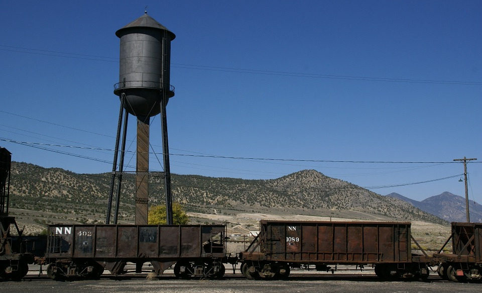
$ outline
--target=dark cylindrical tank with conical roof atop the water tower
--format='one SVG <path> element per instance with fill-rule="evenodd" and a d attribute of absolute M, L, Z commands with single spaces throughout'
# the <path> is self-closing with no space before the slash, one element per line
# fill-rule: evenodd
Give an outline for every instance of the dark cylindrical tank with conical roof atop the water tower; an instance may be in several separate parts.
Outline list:
<path fill-rule="evenodd" d="M 176 36 L 147 13 L 115 35 L 121 38 L 121 57 L 114 94 L 126 94 L 125 108 L 134 116 L 149 118 L 159 114 L 163 96 L 166 104 L 174 96 L 169 79 L 171 41 Z"/>

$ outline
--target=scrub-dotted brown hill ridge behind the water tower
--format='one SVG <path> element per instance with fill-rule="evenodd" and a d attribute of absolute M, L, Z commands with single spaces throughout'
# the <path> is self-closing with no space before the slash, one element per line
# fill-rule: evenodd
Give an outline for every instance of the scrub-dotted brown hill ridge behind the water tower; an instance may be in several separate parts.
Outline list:
<path fill-rule="evenodd" d="M 101 223 L 106 212 L 110 173 L 76 174 L 59 168 L 43 168 L 13 162 L 13 208 L 75 214 L 80 222 Z M 172 174 L 172 198 L 188 212 L 224 213 L 260 211 L 285 214 L 370 215 L 369 219 L 393 219 L 444 223 L 412 205 L 328 177 L 316 170 L 301 170 L 276 179 L 247 180 Z M 151 172 L 150 205 L 164 203 L 164 176 Z M 132 222 L 135 176 L 125 174 L 119 220 Z M 352 216 L 354 217 L 354 216 Z M 357 216 L 358 217 L 358 216 Z M 348 217 L 349 218 L 349 217 Z"/>

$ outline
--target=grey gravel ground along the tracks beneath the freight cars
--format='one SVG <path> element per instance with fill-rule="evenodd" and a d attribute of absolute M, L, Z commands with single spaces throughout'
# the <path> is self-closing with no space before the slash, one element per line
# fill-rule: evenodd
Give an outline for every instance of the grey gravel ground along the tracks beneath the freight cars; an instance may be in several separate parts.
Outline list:
<path fill-rule="evenodd" d="M 226 267 L 227 268 L 227 267 Z M 167 275 L 156 279 L 146 279 L 146 275 L 133 274 L 114 279 L 104 275 L 100 280 L 72 282 L 53 281 L 37 277 L 38 266 L 32 266 L 29 274 L 20 282 L 1 282 L 2 292 L 39 293 L 55 291 L 58 293 L 133 293 L 133 292 L 169 292 L 169 293 L 237 293 L 237 292 L 329 292 L 329 293 L 455 293 L 480 292 L 481 283 L 455 283 L 443 281 L 432 273 L 429 281 L 384 281 L 376 277 L 373 270 L 344 270 L 316 274 L 315 271 L 292 271 L 288 280 L 248 280 L 238 274 L 227 275 L 222 280 L 179 280 L 167 270 Z M 227 268 L 226 273 L 232 272 Z"/>

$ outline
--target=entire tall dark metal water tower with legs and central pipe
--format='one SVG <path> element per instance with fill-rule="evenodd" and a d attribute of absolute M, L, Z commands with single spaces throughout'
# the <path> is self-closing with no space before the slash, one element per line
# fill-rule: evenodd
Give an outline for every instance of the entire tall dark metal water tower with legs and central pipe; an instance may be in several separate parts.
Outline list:
<path fill-rule="evenodd" d="M 169 84 L 169 76 L 171 41 L 176 36 L 147 15 L 147 11 L 140 18 L 116 31 L 115 35 L 121 39 L 121 56 L 119 82 L 114 85 L 114 94 L 121 100 L 121 110 L 115 141 L 106 224 L 110 222 L 114 189 L 116 189 L 116 196 L 113 223 L 117 224 L 129 114 L 137 118 L 136 224 L 147 224 L 149 125 L 150 118 L 158 114 L 161 114 L 167 224 L 172 224 L 166 105 L 169 98 L 174 96 L 174 87 Z M 119 149 L 121 133 L 123 133 L 122 144 Z"/>

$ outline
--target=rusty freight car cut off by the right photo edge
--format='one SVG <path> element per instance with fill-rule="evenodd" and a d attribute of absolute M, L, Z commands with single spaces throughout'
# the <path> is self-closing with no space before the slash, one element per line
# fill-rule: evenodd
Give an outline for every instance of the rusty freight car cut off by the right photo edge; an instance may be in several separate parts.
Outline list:
<path fill-rule="evenodd" d="M 452 253 L 441 253 L 452 240 Z M 482 223 L 452 223 L 452 234 L 434 253 L 438 274 L 454 282 L 482 281 Z"/>

